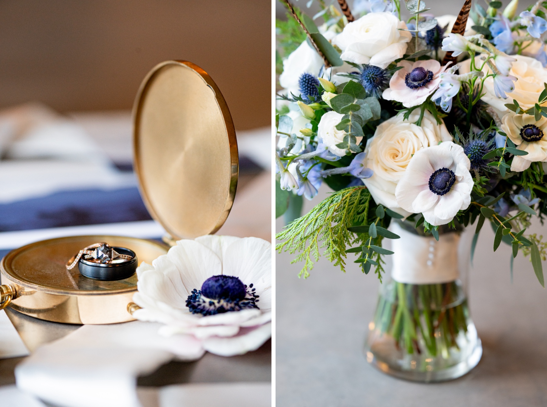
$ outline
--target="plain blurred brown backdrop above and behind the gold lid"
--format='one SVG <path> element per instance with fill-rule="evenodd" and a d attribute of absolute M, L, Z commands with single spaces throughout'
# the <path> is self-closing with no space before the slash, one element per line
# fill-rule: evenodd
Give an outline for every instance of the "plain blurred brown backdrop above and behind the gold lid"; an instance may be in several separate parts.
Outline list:
<path fill-rule="evenodd" d="M 126 110 L 168 59 L 205 69 L 236 129 L 271 123 L 270 0 L 0 2 L 0 108 Z"/>

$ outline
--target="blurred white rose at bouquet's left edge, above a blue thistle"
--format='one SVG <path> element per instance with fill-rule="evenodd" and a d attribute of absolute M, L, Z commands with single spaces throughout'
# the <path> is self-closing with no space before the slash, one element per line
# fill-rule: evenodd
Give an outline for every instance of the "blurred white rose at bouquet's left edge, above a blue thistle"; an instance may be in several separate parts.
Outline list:
<path fill-rule="evenodd" d="M 288 90 L 289 97 L 290 92 L 299 96 L 298 79 L 300 75 L 305 72 L 319 75 L 323 63 L 323 58 L 317 54 L 317 51 L 304 41 L 283 61 L 283 72 L 279 75 L 279 84 Z"/>

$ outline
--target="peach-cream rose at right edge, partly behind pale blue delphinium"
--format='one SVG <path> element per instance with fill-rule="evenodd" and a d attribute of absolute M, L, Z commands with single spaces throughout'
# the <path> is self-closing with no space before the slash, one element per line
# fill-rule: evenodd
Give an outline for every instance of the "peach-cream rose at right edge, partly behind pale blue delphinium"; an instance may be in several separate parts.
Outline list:
<path fill-rule="evenodd" d="M 481 100 L 491 105 L 499 117 L 502 117 L 509 111 L 505 107 L 505 103 L 513 103 L 515 99 L 523 109 L 531 108 L 534 104 L 538 103 L 539 94 L 545 89 L 544 82 L 547 82 L 547 69 L 545 69 L 541 62 L 535 58 L 531 58 L 523 55 L 511 55 L 516 59 L 513 62 L 513 66 L 509 70 L 509 75 L 515 76 L 517 79 L 515 83 L 515 90 L 507 93 L 507 99 L 498 98 L 494 92 L 494 80 L 492 76 L 484 81 L 485 96 Z M 469 72 L 470 60 L 463 61 L 461 63 L 460 73 Z M 475 64 L 482 64 L 479 57 L 475 57 Z M 483 68 L 485 74 L 492 73 L 490 68 L 485 64 Z M 547 102 L 543 104 L 547 106 Z"/>

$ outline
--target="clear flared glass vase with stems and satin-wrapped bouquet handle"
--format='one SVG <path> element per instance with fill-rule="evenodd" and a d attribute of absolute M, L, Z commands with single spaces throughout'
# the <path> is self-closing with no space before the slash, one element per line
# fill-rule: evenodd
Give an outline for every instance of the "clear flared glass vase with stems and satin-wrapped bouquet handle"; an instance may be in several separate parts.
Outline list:
<path fill-rule="evenodd" d="M 391 277 L 380 286 L 366 360 L 401 379 L 456 379 L 482 356 L 467 301 L 473 231 L 440 233 L 437 241 L 404 222 L 390 228 L 401 238 L 392 241 Z"/>

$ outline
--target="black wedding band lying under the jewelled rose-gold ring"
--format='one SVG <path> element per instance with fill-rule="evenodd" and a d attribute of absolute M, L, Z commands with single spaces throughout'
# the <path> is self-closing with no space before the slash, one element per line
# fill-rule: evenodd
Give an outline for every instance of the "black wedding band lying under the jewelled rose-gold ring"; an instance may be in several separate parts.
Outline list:
<path fill-rule="evenodd" d="M 135 274 L 137 255 L 125 247 L 112 247 L 120 255 L 131 256 L 132 259 L 121 263 L 100 263 L 80 258 L 78 269 L 80 274 L 95 280 L 123 280 Z"/>

